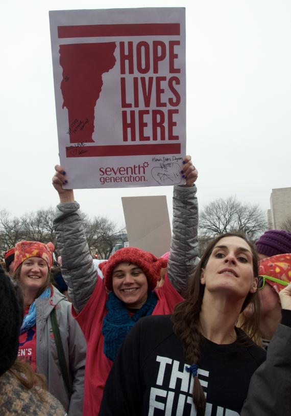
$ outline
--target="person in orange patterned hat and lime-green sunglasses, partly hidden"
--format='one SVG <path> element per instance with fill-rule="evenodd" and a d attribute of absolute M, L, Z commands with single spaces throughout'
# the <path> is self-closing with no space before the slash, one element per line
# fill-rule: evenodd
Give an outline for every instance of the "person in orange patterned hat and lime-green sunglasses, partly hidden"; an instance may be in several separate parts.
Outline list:
<path fill-rule="evenodd" d="M 259 262 L 258 293 L 260 298 L 259 333 L 254 341 L 267 349 L 281 321 L 279 292 L 291 281 L 291 254 L 266 257 Z M 253 307 L 250 304 L 240 317 L 239 326 L 247 333 L 252 321 Z"/>

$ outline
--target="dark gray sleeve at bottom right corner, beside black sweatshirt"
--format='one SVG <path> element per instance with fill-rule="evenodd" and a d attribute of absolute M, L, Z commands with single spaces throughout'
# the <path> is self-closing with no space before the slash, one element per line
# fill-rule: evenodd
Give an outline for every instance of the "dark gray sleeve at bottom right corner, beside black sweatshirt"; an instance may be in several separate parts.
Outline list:
<path fill-rule="evenodd" d="M 291 328 L 278 325 L 266 361 L 251 378 L 240 416 L 291 414 Z"/>

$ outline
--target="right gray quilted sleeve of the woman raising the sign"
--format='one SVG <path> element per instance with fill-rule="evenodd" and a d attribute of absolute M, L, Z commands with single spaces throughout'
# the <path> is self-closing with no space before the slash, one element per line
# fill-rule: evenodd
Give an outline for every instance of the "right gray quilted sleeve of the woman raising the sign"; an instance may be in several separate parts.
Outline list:
<path fill-rule="evenodd" d="M 174 186 L 173 233 L 168 259 L 168 278 L 183 296 L 188 279 L 199 263 L 198 201 L 196 185 Z"/>

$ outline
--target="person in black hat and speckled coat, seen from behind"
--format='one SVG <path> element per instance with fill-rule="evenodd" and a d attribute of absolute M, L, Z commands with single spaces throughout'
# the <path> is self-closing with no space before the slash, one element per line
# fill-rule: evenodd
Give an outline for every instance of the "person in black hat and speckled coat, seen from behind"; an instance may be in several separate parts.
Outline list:
<path fill-rule="evenodd" d="M 46 391 L 44 377 L 17 360 L 23 302 L 17 284 L 0 266 L 0 414 L 65 416 L 63 406 Z"/>

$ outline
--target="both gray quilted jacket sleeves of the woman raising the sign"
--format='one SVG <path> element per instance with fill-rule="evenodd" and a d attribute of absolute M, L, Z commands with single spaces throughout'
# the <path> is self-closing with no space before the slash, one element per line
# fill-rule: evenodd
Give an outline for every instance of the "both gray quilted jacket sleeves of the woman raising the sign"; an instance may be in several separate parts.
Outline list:
<path fill-rule="evenodd" d="M 199 262 L 196 192 L 196 185 L 174 186 L 173 235 L 167 272 L 169 280 L 182 296 L 188 278 Z M 79 204 L 62 203 L 58 209 L 54 226 L 62 257 L 62 275 L 68 285 L 74 309 L 79 314 L 93 293 L 96 271 L 78 213 Z"/>

